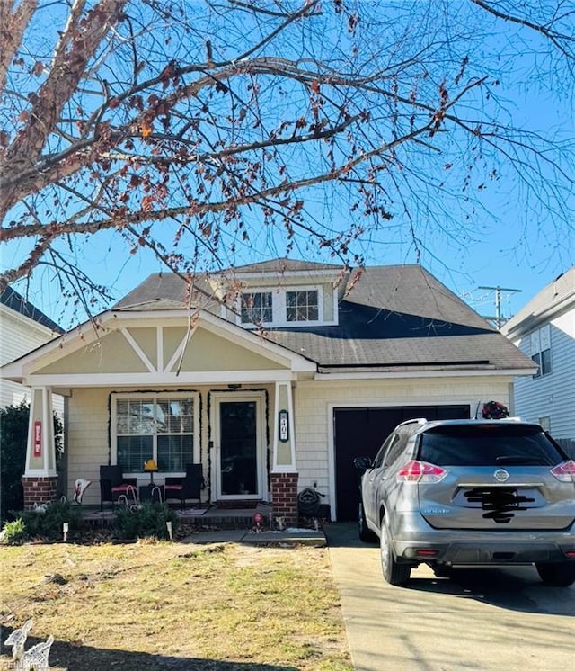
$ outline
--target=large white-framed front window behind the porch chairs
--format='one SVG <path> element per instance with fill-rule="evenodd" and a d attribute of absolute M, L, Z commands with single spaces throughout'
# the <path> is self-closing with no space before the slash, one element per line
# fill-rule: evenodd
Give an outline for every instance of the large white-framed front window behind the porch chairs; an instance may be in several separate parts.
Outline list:
<path fill-rule="evenodd" d="M 194 452 L 193 397 L 163 395 L 116 398 L 117 462 L 125 471 L 141 471 L 154 459 L 159 470 L 186 470 Z"/>

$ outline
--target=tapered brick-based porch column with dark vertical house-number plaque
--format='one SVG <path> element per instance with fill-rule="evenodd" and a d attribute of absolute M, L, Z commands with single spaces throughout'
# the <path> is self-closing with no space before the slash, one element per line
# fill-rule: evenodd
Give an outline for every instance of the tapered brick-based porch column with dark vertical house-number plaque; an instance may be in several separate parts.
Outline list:
<path fill-rule="evenodd" d="M 290 382 L 276 382 L 273 423 L 273 462 L 270 473 L 271 505 L 274 517 L 288 526 L 297 523 L 296 436 L 294 404 Z"/>

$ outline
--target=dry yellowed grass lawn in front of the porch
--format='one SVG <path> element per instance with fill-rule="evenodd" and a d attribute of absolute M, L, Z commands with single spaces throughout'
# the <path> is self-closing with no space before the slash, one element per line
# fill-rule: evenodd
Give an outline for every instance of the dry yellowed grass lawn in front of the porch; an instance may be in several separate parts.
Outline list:
<path fill-rule="evenodd" d="M 33 618 L 27 647 L 56 638 L 50 668 L 352 668 L 324 548 L 140 541 L 0 553 L 2 640 Z"/>

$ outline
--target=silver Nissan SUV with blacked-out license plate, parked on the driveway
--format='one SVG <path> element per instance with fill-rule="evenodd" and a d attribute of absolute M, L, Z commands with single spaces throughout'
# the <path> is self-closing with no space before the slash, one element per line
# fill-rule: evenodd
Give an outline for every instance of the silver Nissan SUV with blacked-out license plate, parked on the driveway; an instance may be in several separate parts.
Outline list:
<path fill-rule="evenodd" d="M 391 585 L 420 563 L 535 564 L 546 585 L 575 582 L 575 461 L 540 425 L 414 419 L 355 464 L 359 537 L 379 537 Z"/>

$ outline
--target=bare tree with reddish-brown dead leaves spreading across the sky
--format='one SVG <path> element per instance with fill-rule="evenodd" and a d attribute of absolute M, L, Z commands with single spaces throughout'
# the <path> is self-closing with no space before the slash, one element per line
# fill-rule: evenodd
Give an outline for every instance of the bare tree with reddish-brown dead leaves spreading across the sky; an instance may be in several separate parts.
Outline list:
<path fill-rule="evenodd" d="M 0 290 L 42 265 L 89 310 L 75 245 L 106 230 L 182 274 L 467 245 L 500 178 L 571 236 L 572 146 L 505 101 L 520 64 L 570 90 L 575 5 L 516 5 L 0 0 Z"/>

